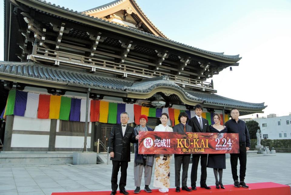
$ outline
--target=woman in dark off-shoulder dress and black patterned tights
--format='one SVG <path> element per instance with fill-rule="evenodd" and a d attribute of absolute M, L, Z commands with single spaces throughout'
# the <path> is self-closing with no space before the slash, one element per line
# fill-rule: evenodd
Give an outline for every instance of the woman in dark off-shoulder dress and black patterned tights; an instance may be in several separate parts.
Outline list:
<path fill-rule="evenodd" d="M 209 127 L 211 133 L 227 133 L 227 128 L 220 124 L 220 120 L 221 118 L 219 114 L 213 115 L 214 124 L 210 125 Z M 225 187 L 222 185 L 222 169 L 226 168 L 225 154 L 209 154 L 207 160 L 207 167 L 213 168 L 216 188 L 219 189 L 220 185 L 222 189 L 225 189 Z M 219 174 L 219 181 L 217 173 Z"/>

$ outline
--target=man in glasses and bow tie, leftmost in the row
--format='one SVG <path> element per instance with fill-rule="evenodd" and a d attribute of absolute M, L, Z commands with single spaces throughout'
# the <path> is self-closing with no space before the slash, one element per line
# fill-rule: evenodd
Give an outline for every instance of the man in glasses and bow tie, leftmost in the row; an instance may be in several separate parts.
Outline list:
<path fill-rule="evenodd" d="M 136 143 L 138 135 L 135 137 L 134 129 L 130 127 L 127 122 L 129 114 L 123 112 L 120 114 L 121 124 L 116 124 L 112 127 L 109 136 L 109 153 L 110 160 L 112 160 L 112 176 L 111 176 L 111 189 L 110 195 L 116 194 L 117 190 L 117 176 L 120 167 L 121 176 L 119 180 L 120 193 L 129 194 L 125 190 L 126 176 L 128 162 L 130 161 L 130 142 Z"/>

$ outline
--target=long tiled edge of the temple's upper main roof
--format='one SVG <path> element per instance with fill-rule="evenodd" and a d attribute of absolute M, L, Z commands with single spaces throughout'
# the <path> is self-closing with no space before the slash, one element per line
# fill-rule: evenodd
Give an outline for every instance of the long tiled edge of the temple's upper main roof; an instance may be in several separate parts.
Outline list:
<path fill-rule="evenodd" d="M 102 19 L 102 18 L 94 18 L 93 16 L 85 15 L 85 14 L 82 14 L 81 12 L 77 12 L 77 11 L 74 11 L 72 9 L 70 10 L 69 8 L 61 7 L 60 5 L 52 4 L 51 2 L 46 2 L 46 1 L 42 1 L 42 0 L 34 0 L 34 1 L 42 2 L 45 5 L 49 5 L 49 6 L 58 8 L 58 9 L 62 9 L 62 10 L 65 10 L 67 12 L 74 13 L 76 15 L 82 15 L 83 17 L 91 18 L 91 19 L 94 19 L 96 21 L 101 21 L 101 22 L 104 22 L 104 23 L 108 23 L 108 24 L 111 24 L 111 25 L 115 25 L 115 26 L 120 27 L 120 28 L 125 28 L 125 29 L 127 29 L 129 31 L 138 32 L 138 33 L 143 34 L 143 35 L 147 35 L 147 36 L 150 36 L 150 37 L 153 37 L 153 38 L 156 38 L 156 39 L 160 39 L 160 40 L 163 40 L 163 41 L 167 41 L 169 43 L 173 43 L 175 45 L 179 45 L 179 46 L 182 46 L 182 47 L 186 47 L 186 48 L 192 49 L 193 51 L 198 51 L 200 53 L 204 53 L 204 54 L 207 54 L 207 55 L 212 55 L 212 56 L 216 56 L 216 57 L 223 58 L 223 59 L 229 59 L 229 60 L 233 60 L 233 61 L 239 61 L 241 59 L 241 57 L 239 57 L 239 55 L 224 55 L 224 53 L 206 51 L 206 50 L 203 50 L 203 49 L 199 49 L 199 48 L 196 48 L 196 47 L 192 47 L 190 45 L 186 45 L 186 44 L 183 44 L 183 43 L 179 43 L 177 41 L 173 41 L 171 39 L 159 37 L 159 36 L 156 36 L 156 35 L 153 35 L 153 34 L 150 34 L 150 33 L 147 33 L 147 32 L 141 31 L 141 30 L 138 30 L 136 28 L 132 28 L 132 27 L 128 27 L 128 26 L 121 25 L 121 24 L 117 24 L 115 22 L 108 21 L 108 20 L 105 20 L 105 19 Z"/>

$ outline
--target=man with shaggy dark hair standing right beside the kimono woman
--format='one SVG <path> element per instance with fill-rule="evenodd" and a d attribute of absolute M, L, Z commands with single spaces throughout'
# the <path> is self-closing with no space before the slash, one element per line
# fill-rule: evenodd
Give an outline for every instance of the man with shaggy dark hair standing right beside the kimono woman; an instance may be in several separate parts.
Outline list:
<path fill-rule="evenodd" d="M 188 122 L 188 114 L 186 112 L 181 112 L 178 117 L 179 124 L 176 124 L 173 127 L 173 132 L 192 132 L 192 127 L 186 124 Z M 180 192 L 180 172 L 181 165 L 182 167 L 182 190 L 186 190 L 188 192 L 192 191 L 187 187 L 187 178 L 188 178 L 188 167 L 190 161 L 191 154 L 175 154 L 175 186 L 176 192 Z"/>

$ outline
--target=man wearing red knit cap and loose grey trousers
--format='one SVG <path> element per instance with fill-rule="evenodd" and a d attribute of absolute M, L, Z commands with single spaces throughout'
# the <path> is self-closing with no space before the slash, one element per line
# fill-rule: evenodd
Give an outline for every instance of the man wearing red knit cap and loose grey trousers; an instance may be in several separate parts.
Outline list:
<path fill-rule="evenodd" d="M 146 123 L 148 122 L 148 117 L 144 114 L 140 115 L 139 117 L 139 126 L 136 126 L 134 128 L 134 134 L 135 136 L 139 134 L 139 131 L 153 131 L 152 128 L 146 126 Z M 154 155 L 152 154 L 139 154 L 139 148 L 138 144 L 135 145 L 135 156 L 134 156 L 134 167 L 133 167 L 133 174 L 134 174 L 134 185 L 136 186 L 136 189 L 134 190 L 134 193 L 140 192 L 140 184 L 142 181 L 142 172 L 145 170 L 145 191 L 146 192 L 152 192 L 152 190 L 149 188 L 149 185 L 151 183 L 152 178 L 152 166 L 154 164 Z"/>

